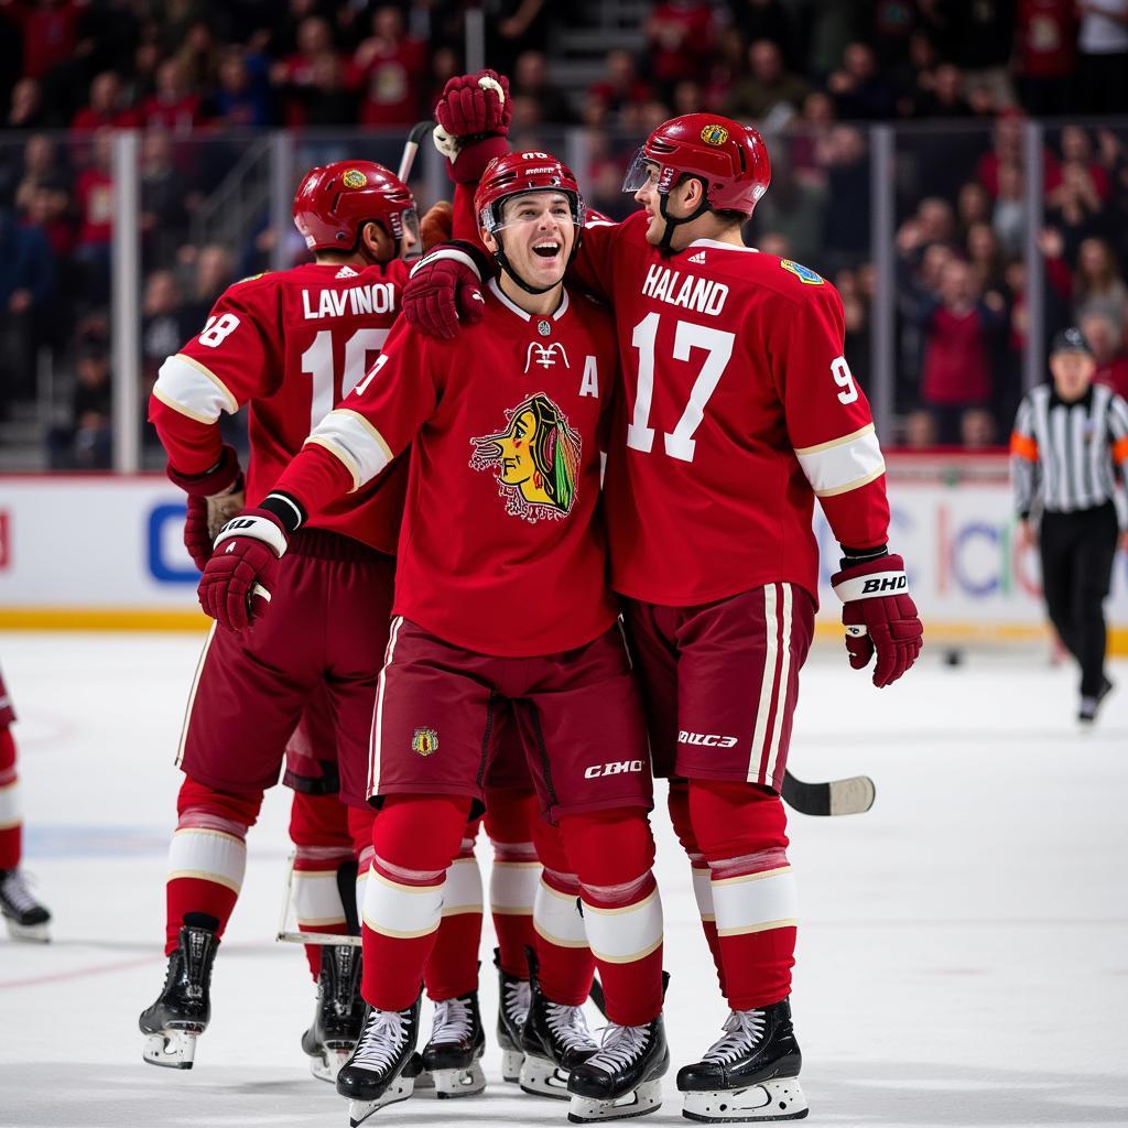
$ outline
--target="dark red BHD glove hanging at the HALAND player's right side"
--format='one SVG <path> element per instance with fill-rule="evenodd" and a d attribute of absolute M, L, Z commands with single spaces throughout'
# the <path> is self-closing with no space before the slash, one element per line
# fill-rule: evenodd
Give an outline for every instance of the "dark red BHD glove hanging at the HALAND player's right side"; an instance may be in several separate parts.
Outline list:
<path fill-rule="evenodd" d="M 830 580 L 843 601 L 843 626 L 849 664 L 862 670 L 874 652 L 873 684 L 892 685 L 916 660 L 924 645 L 924 627 L 908 593 L 905 562 L 880 556 L 864 563 L 843 562 Z"/>

